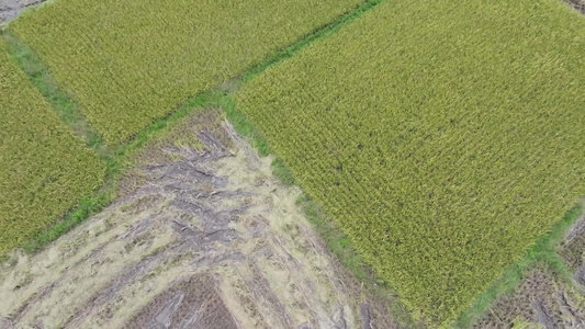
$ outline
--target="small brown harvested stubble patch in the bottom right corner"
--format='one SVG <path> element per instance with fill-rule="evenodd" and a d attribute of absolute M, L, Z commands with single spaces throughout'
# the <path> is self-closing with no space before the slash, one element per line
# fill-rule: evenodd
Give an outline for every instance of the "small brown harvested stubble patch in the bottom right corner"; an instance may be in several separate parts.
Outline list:
<path fill-rule="evenodd" d="M 571 271 L 553 272 L 550 262 L 528 268 L 520 284 L 499 296 L 473 328 L 585 328 L 584 241 L 582 215 L 556 248 Z"/>

